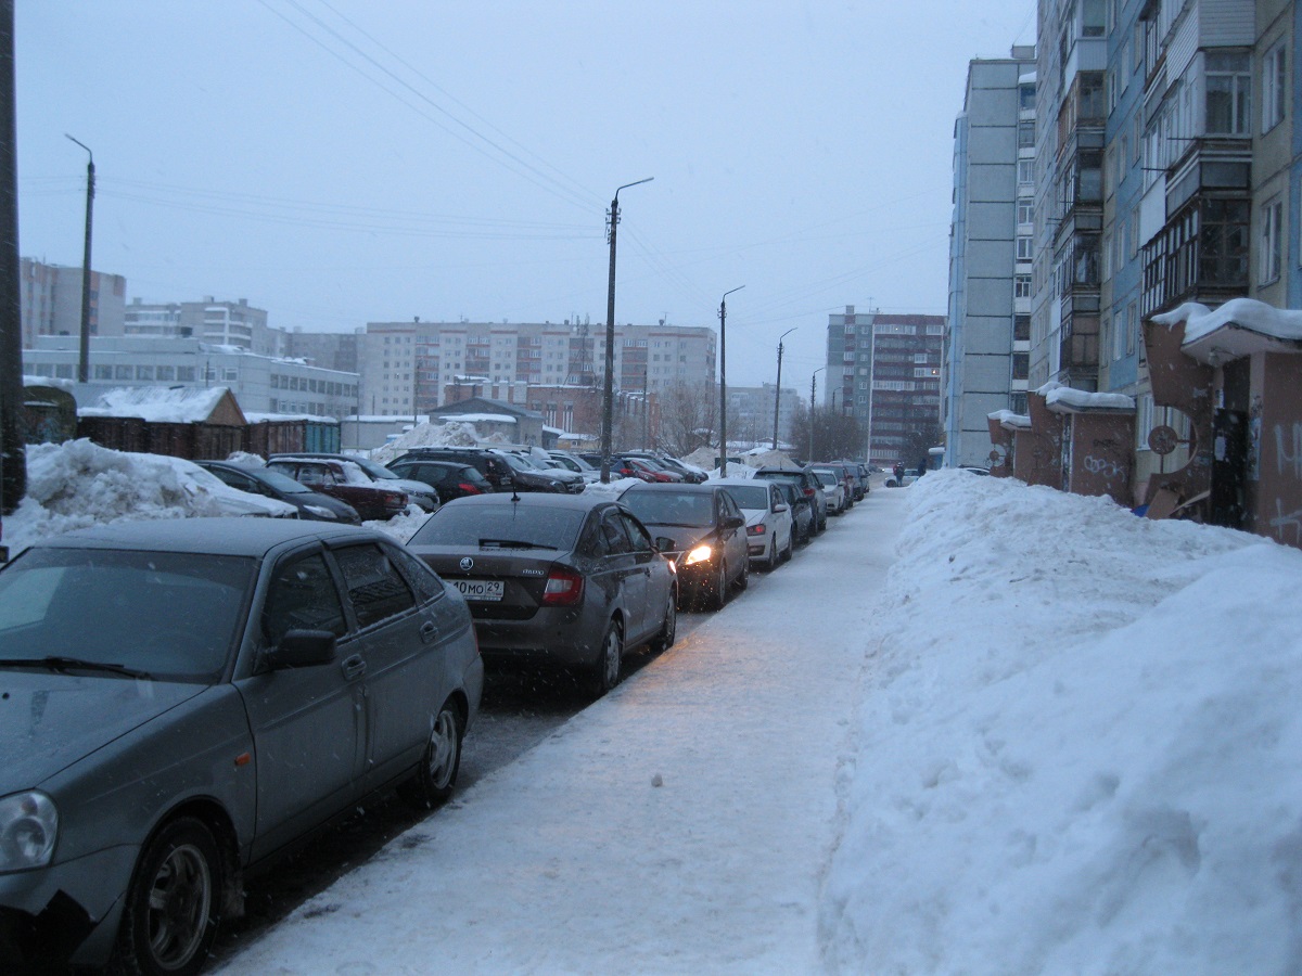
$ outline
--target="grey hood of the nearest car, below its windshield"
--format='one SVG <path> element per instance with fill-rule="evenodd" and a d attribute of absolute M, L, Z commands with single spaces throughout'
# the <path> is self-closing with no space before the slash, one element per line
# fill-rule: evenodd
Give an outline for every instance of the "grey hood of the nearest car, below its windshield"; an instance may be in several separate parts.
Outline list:
<path fill-rule="evenodd" d="M 206 688 L 94 674 L 0 671 L 0 796 L 40 786 Z"/>

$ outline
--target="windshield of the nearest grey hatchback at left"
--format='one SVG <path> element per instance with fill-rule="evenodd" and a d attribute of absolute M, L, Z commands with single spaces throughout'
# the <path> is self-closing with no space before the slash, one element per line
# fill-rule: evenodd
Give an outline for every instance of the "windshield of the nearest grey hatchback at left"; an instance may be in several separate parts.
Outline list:
<path fill-rule="evenodd" d="M 255 574 L 234 556 L 29 550 L 0 573 L 0 666 L 76 658 L 211 683 L 241 636 Z"/>

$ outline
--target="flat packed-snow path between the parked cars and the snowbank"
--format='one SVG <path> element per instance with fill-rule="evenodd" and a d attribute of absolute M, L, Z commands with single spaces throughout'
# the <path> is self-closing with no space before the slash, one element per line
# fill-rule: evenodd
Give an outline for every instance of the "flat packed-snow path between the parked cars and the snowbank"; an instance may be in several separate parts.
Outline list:
<path fill-rule="evenodd" d="M 905 495 L 832 519 L 224 972 L 820 969 L 837 776 Z"/>

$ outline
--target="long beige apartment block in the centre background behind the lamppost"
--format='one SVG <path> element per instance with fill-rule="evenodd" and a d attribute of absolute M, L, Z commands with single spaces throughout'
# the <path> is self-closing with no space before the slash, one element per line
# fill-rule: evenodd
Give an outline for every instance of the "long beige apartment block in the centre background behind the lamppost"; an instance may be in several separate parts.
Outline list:
<path fill-rule="evenodd" d="M 415 319 L 370 323 L 358 338 L 363 403 L 379 415 L 432 413 L 449 390 L 523 403 L 530 386 L 603 385 L 604 325 Z M 713 379 L 711 328 L 617 325 L 615 342 L 615 386 L 625 393 Z"/>

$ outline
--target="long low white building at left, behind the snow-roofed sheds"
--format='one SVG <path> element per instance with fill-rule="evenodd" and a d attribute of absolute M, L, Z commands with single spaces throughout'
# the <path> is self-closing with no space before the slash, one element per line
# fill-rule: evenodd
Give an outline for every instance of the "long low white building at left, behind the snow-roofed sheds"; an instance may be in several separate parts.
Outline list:
<path fill-rule="evenodd" d="M 243 353 L 197 338 L 117 336 L 92 338 L 90 381 L 74 393 L 89 402 L 109 386 L 228 386 L 245 414 L 342 419 L 357 413 L 357 373 L 323 370 L 301 359 Z M 77 376 L 79 340 L 40 336 L 22 353 L 33 376 Z"/>

